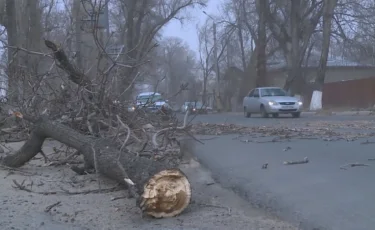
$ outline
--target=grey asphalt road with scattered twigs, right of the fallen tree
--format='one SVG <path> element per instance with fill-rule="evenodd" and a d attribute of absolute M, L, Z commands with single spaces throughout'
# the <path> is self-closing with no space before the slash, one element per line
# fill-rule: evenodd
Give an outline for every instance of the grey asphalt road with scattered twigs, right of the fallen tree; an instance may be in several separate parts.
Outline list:
<path fill-rule="evenodd" d="M 194 122 L 272 127 L 307 127 L 308 123 L 328 122 L 346 124 L 346 129 L 336 126 L 336 130 L 356 133 L 361 132 L 361 128 L 355 130 L 353 124 L 371 120 L 375 117 L 305 115 L 298 119 L 264 119 L 216 114 L 199 116 Z M 362 124 L 362 129 L 364 126 Z M 367 132 L 375 135 L 375 125 L 367 126 Z M 300 223 L 302 229 L 375 229 L 375 161 L 369 161 L 375 158 L 375 145 L 361 144 L 365 140 L 375 141 L 375 138 L 356 141 L 292 138 L 254 143 L 241 142 L 236 137 L 238 135 L 227 135 L 207 140 L 205 136 L 205 144 L 196 146 L 197 158 L 223 186 L 232 188 L 255 206 Z M 304 157 L 310 162 L 283 164 Z M 340 169 L 342 165 L 355 162 L 369 166 Z M 261 169 L 264 163 L 269 164 L 268 169 Z"/>

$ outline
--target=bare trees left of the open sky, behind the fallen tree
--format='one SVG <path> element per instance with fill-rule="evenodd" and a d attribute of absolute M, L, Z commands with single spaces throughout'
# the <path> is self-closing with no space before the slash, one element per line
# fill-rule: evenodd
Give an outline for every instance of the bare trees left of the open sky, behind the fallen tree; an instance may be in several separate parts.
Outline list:
<path fill-rule="evenodd" d="M 7 96 L 12 103 L 34 108 L 31 98 L 47 103 L 61 94 L 63 83 L 70 87 L 47 57 L 43 38 L 60 43 L 69 60 L 95 85 L 101 85 L 103 96 L 128 100 L 137 84 L 157 85 L 168 95 L 177 94 L 181 82 L 196 85 L 196 55 L 181 39 L 164 38 L 162 29 L 206 2 L 1 1 L 1 53 L 7 63 L 1 67 L 9 84 Z M 105 28 L 107 7 L 109 30 Z"/>

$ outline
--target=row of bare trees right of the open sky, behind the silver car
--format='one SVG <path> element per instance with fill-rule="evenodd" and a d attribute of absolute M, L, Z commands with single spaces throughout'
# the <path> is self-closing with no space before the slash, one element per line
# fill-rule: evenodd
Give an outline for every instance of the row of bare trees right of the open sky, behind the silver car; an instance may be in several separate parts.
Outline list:
<path fill-rule="evenodd" d="M 273 61 L 283 60 L 282 67 L 287 70 L 284 88 L 293 94 L 304 94 L 310 91 L 306 89 L 313 88 L 318 96 L 313 107 L 319 109 L 329 54 L 342 60 L 337 65 L 375 64 L 374 10 L 374 3 L 367 0 L 225 0 L 220 16 L 215 17 L 221 37 L 219 50 L 224 51 L 218 57 L 221 75 L 229 67 L 237 68 L 231 72 L 234 75 L 230 79 L 237 81 L 235 87 L 239 89 L 238 101 L 241 101 L 249 88 L 272 84 L 272 79 L 266 77 L 267 68 L 272 67 Z M 200 40 L 203 44 L 200 52 L 203 60 L 211 60 L 202 76 L 207 76 L 207 70 L 215 71 L 211 68 L 214 64 L 210 49 L 213 46 L 211 23 L 212 19 L 208 18 L 200 28 L 204 34 L 200 36 L 204 37 Z M 313 66 L 317 74 L 314 84 L 309 85 L 302 68 L 309 65 L 309 58 L 316 53 L 320 55 Z M 238 80 L 235 75 L 241 72 Z"/>

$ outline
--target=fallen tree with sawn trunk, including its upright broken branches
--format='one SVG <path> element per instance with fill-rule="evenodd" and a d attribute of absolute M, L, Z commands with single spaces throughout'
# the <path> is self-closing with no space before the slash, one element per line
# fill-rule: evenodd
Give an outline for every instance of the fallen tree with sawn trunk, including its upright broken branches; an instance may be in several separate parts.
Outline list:
<path fill-rule="evenodd" d="M 82 100 L 86 103 L 87 117 L 84 119 L 88 122 L 88 129 L 92 129 L 89 120 L 93 120 L 95 115 L 101 114 L 106 118 L 117 117 L 121 125 L 127 129 L 126 139 L 120 148 L 113 138 L 84 135 L 60 121 L 51 120 L 48 116 L 37 117 L 16 112 L 18 118 L 32 123 L 33 128 L 29 139 L 21 149 L 5 156 L 1 159 L 1 164 L 7 167 L 23 166 L 39 152 L 43 153 L 44 141 L 46 138 L 52 138 L 79 151 L 83 155 L 86 169 L 93 168 L 96 173 L 126 185 L 143 213 L 162 218 L 176 216 L 185 210 L 191 200 L 188 178 L 176 165 L 158 161 L 153 156 L 160 154 L 161 151 L 157 137 L 171 130 L 184 129 L 188 114 L 185 115 L 181 127 L 167 127 L 152 135 L 151 157 L 139 156 L 125 147 L 132 136 L 130 128 L 122 123 L 118 115 L 109 115 L 105 111 L 99 98 L 92 93 L 94 90 L 89 78 L 69 62 L 61 47 L 48 40 L 45 44 L 54 52 L 55 61 L 59 68 L 68 73 L 70 81 L 84 89 Z"/>

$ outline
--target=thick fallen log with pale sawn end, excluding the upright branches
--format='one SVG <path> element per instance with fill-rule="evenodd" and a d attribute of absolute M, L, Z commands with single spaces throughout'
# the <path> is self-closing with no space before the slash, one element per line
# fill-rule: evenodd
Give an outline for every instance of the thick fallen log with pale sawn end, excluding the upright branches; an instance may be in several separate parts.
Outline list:
<path fill-rule="evenodd" d="M 21 115 L 22 117 L 22 115 Z M 156 218 L 180 214 L 190 203 L 191 188 L 178 168 L 120 151 L 111 139 L 85 136 L 48 117 L 23 117 L 34 123 L 29 140 L 1 164 L 21 167 L 41 152 L 46 138 L 53 138 L 82 153 L 85 165 L 121 184 L 126 184 L 142 212 Z"/>

